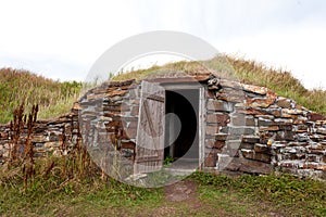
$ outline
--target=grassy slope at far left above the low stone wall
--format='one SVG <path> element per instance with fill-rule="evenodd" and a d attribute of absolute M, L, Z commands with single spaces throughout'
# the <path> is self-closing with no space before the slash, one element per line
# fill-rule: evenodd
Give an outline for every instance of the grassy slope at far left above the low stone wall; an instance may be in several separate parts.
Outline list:
<path fill-rule="evenodd" d="M 0 123 L 10 122 L 14 108 L 23 102 L 27 111 L 39 104 L 39 118 L 68 113 L 80 89 L 80 82 L 60 82 L 28 71 L 0 68 Z"/>

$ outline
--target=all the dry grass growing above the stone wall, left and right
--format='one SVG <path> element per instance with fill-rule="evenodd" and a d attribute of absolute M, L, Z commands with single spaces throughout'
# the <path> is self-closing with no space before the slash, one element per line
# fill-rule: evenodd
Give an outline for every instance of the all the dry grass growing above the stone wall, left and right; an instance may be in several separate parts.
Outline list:
<path fill-rule="evenodd" d="M 279 95 L 296 100 L 299 104 L 326 115 L 326 91 L 308 90 L 289 72 L 264 66 L 228 55 L 203 62 L 177 62 L 164 66 L 121 73 L 113 80 L 142 79 L 156 72 L 181 71 L 188 74 L 216 72 L 220 77 L 269 88 Z M 12 119 L 17 105 L 25 102 L 27 111 L 39 104 L 39 118 L 50 118 L 67 113 L 79 95 L 82 82 L 60 82 L 30 72 L 13 68 L 0 69 L 0 123 Z"/>

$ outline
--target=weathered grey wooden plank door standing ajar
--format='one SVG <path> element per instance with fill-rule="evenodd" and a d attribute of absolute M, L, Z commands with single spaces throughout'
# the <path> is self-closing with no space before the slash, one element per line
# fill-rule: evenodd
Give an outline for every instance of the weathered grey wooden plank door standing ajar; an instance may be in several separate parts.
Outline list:
<path fill-rule="evenodd" d="M 164 158 L 165 90 L 158 82 L 141 82 L 134 173 L 162 168 Z"/>

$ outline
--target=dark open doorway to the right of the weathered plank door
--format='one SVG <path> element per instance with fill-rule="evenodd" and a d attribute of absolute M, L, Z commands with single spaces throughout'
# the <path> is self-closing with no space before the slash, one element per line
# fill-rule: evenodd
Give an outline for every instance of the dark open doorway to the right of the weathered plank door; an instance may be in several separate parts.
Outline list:
<path fill-rule="evenodd" d="M 199 166 L 199 88 L 165 91 L 164 158 L 177 169 Z"/>

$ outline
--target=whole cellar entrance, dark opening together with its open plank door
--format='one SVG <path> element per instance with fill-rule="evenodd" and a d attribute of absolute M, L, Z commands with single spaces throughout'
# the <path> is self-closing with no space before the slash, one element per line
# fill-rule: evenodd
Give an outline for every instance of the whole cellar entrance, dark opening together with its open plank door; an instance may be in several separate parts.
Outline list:
<path fill-rule="evenodd" d="M 204 88 L 142 81 L 139 104 L 134 174 L 161 170 L 166 158 L 174 171 L 201 169 Z"/>

